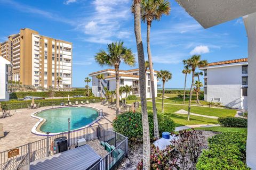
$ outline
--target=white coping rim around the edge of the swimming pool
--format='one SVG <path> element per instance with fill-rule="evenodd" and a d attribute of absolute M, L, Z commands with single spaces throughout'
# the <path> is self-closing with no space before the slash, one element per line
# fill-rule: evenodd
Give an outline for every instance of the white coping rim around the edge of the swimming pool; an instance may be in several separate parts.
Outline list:
<path fill-rule="evenodd" d="M 98 109 L 98 108 L 95 108 L 95 107 L 91 107 L 91 106 L 64 106 L 64 107 L 90 107 L 90 108 L 93 108 L 95 110 L 98 111 L 98 117 L 91 123 L 87 124 L 86 126 L 83 126 L 81 128 L 78 128 L 78 129 L 74 129 L 74 130 L 70 130 L 70 132 L 74 132 L 74 131 L 78 131 L 78 130 L 81 130 L 81 129 L 84 129 L 84 128 L 87 128 L 91 125 L 93 125 L 94 123 L 97 123 L 101 118 L 102 118 L 102 114 L 103 114 L 103 109 Z M 42 111 L 47 111 L 47 110 L 50 110 L 50 109 L 55 109 L 55 108 L 64 108 L 64 107 L 54 107 L 54 108 L 47 108 L 47 109 L 43 109 Z M 31 133 L 33 134 L 36 134 L 36 135 L 39 135 L 39 136 L 47 136 L 47 134 L 45 132 L 42 132 L 42 131 L 38 131 L 38 128 L 41 127 L 41 125 L 46 121 L 45 118 L 42 118 L 42 117 L 38 117 L 36 116 L 35 114 L 39 113 L 39 112 L 42 112 L 42 111 L 37 111 L 37 112 L 34 112 L 32 113 L 30 116 L 33 117 L 33 118 L 37 118 L 39 121 L 33 126 L 33 128 L 31 129 Z M 64 132 L 58 132 L 58 133 L 49 133 L 49 136 L 53 136 L 53 135 L 58 135 L 58 134 L 61 134 L 61 133 L 67 133 L 68 131 L 64 131 Z"/>

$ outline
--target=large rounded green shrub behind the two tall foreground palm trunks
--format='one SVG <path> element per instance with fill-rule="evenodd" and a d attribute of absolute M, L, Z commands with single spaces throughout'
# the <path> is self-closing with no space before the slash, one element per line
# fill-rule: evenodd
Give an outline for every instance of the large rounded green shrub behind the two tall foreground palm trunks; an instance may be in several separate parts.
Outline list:
<path fill-rule="evenodd" d="M 173 132 L 175 128 L 175 124 L 171 118 L 166 115 L 158 114 L 158 128 L 159 134 L 162 132 Z M 154 139 L 154 121 L 153 121 L 153 113 L 148 113 L 148 121 L 149 121 L 149 132 L 150 139 Z M 121 133 L 129 138 L 129 141 L 141 142 L 143 140 L 143 132 L 142 132 L 142 118 L 141 113 L 139 112 L 126 112 L 119 115 L 113 121 L 113 127 L 116 132 Z"/>

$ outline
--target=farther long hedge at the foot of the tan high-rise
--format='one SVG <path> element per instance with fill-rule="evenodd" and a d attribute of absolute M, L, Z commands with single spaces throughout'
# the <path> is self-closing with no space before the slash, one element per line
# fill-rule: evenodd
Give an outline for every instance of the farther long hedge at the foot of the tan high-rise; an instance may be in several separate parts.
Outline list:
<path fill-rule="evenodd" d="M 91 90 L 89 90 L 90 95 Z M 13 92 L 10 94 L 10 99 L 24 98 L 25 96 L 36 96 L 36 97 L 67 97 L 76 95 L 86 95 L 87 91 L 77 90 L 77 91 L 38 91 L 38 92 Z"/>

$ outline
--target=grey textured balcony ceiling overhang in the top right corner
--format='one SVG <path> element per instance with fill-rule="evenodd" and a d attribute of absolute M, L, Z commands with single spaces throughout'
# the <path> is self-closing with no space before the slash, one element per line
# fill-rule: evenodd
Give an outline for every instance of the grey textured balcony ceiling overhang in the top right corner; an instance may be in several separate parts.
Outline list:
<path fill-rule="evenodd" d="M 255 0 L 175 0 L 202 27 L 209 28 L 223 22 L 256 12 Z"/>

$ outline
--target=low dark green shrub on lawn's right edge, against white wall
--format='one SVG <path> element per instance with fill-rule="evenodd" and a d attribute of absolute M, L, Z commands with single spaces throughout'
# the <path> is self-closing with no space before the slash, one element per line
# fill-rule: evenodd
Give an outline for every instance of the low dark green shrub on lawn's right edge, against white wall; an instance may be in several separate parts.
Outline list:
<path fill-rule="evenodd" d="M 241 117 L 219 117 L 218 122 L 225 127 L 247 128 L 247 119 Z"/>

